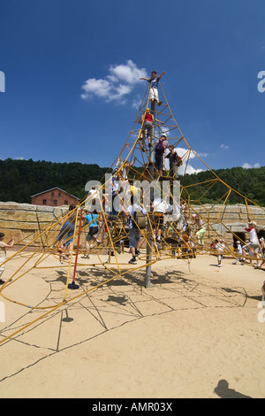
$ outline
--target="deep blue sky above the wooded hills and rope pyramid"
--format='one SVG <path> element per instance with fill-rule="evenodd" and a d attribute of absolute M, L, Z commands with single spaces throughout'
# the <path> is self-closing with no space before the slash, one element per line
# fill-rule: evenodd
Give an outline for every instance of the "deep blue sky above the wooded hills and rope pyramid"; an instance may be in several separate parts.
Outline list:
<path fill-rule="evenodd" d="M 264 166 L 264 21 L 264 0 L 1 0 L 0 158 L 112 165 L 155 69 L 208 166 Z"/>

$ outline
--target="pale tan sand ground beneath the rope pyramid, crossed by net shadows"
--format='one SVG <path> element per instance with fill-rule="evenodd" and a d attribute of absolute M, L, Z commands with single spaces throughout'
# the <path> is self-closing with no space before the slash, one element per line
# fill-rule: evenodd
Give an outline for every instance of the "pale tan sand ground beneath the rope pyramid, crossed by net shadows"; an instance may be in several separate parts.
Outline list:
<path fill-rule="evenodd" d="M 22 261 L 7 263 L 4 280 Z M 170 258 L 152 266 L 149 289 L 145 268 L 95 289 L 113 274 L 86 262 L 57 309 L 67 278 L 57 258 L 3 290 L 0 341 L 19 332 L 0 344 L 0 397 L 264 397 L 264 270 Z"/>

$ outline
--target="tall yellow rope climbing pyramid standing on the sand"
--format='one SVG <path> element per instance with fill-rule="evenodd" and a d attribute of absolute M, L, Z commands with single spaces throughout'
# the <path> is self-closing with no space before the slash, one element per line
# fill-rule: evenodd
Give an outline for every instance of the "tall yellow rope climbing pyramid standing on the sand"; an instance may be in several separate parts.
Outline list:
<path fill-rule="evenodd" d="M 234 193 L 242 198 L 246 219 L 250 222 L 255 220 L 250 206 L 255 205 L 263 212 L 265 211 L 264 208 L 240 195 L 237 190 L 231 189 L 192 150 L 170 110 L 170 105 L 161 84 L 159 87 L 163 96 L 162 104 L 158 105 L 150 100 L 150 88 L 148 87 L 125 145 L 110 167 L 109 173 L 97 184 L 96 194 L 88 194 L 72 210 L 72 218 L 74 219 L 72 221 L 74 242 L 72 249 L 66 254 L 64 248 L 67 247 L 69 242 L 65 238 L 65 233 L 60 238 L 60 230 L 69 216 L 69 212 L 67 212 L 58 220 L 52 221 L 46 227 L 43 227 L 42 232 L 35 235 L 30 243 L 27 243 L 0 265 L 3 266 L 8 262 L 19 259 L 18 268 L 14 273 L 11 273 L 0 289 L 1 297 L 6 301 L 30 308 L 33 311 L 40 310 L 42 312 L 26 326 L 20 327 L 18 331 L 5 336 L 0 340 L 0 343 L 4 343 L 4 341 L 26 327 L 33 325 L 36 321 L 42 320 L 50 312 L 54 312 L 65 304 L 83 297 L 89 291 L 110 283 L 110 281 L 122 277 L 128 272 L 132 273 L 132 271 L 140 268 L 146 268 L 147 278 L 150 279 L 151 266 L 158 260 L 182 258 L 191 261 L 192 258 L 198 255 L 216 253 L 213 242 L 220 243 L 224 232 L 228 232 L 234 235 L 237 240 L 240 240 L 239 236 L 233 233 L 231 227 L 225 222 L 227 207 Z M 151 112 L 155 119 L 149 136 L 148 131 L 145 130 L 144 117 L 141 117 L 146 114 L 147 110 Z M 177 151 L 181 149 L 182 151 L 178 169 L 173 172 L 166 160 L 167 158 L 165 158 L 168 152 L 166 150 L 163 155 L 163 174 L 159 172 L 155 165 L 155 143 L 159 141 L 162 135 L 167 136 L 167 142 L 173 149 Z M 210 179 L 195 184 L 189 184 L 186 181 L 192 166 L 191 163 L 194 163 L 194 161 L 201 170 L 207 170 L 211 174 Z M 181 181 L 179 183 L 178 174 L 180 173 Z M 118 182 L 117 189 L 113 186 L 114 181 Z M 149 187 L 148 193 L 145 193 L 145 186 Z M 216 204 L 202 204 L 203 197 L 208 194 L 210 189 L 212 190 L 215 187 L 218 187 L 221 195 Z M 116 192 L 111 195 L 111 192 L 108 193 L 108 189 L 115 189 Z M 113 202 L 113 196 L 116 198 L 118 205 L 115 210 L 113 206 L 110 206 Z M 124 212 L 128 210 L 130 204 L 134 203 L 139 205 L 144 203 L 147 215 L 146 227 L 135 226 L 140 230 L 140 254 L 137 262 L 135 262 L 136 264 L 129 264 L 129 230 Z M 92 211 L 91 208 L 94 206 L 96 206 L 99 215 L 100 231 L 93 247 L 90 247 L 90 258 L 83 258 L 87 227 L 94 222 L 92 219 L 87 223 L 87 221 L 84 221 L 84 216 L 86 210 Z M 160 207 L 159 211 L 157 207 Z M 198 233 L 201 225 L 205 228 L 205 235 Z M 70 237 L 68 240 L 70 240 Z M 245 241 L 240 240 L 240 243 L 244 245 Z M 30 251 L 29 248 L 31 248 Z M 234 258 L 237 258 L 237 254 L 231 252 L 231 246 L 227 243 L 223 243 L 223 254 L 233 255 Z M 246 263 L 250 264 L 252 261 L 257 261 L 263 267 L 261 245 L 259 250 L 248 250 L 246 257 Z M 76 272 L 81 267 L 86 267 L 92 274 L 93 270 L 97 270 L 97 272 L 99 270 L 108 271 L 110 279 L 84 291 L 76 283 Z M 64 297 L 56 304 L 31 305 L 14 299 L 10 295 L 12 286 L 23 279 L 27 273 L 34 272 L 36 274 L 41 269 L 52 271 L 52 269 L 58 268 L 67 270 L 67 279 Z M 73 292 L 72 289 L 77 290 Z"/>

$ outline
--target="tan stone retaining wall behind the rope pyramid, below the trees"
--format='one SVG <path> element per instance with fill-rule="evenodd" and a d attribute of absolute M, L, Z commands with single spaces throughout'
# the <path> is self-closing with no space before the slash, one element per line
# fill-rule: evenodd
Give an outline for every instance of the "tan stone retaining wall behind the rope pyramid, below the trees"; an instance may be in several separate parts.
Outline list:
<path fill-rule="evenodd" d="M 205 235 L 208 238 L 214 238 L 214 230 L 216 230 L 218 235 L 223 235 L 227 243 L 232 243 L 233 234 L 245 233 L 247 210 L 244 204 L 215 205 L 214 207 L 208 204 L 193 205 L 193 210 L 200 213 L 202 218 L 211 224 Z M 5 241 L 13 236 L 17 244 L 24 246 L 36 238 L 32 245 L 39 245 L 47 238 L 45 233 L 40 238 L 40 233 L 49 227 L 52 221 L 57 222 L 62 218 L 67 211 L 68 206 L 51 207 L 0 202 L 0 232 L 5 234 Z M 257 222 L 261 235 L 265 236 L 265 208 L 250 206 L 249 212 L 252 219 Z M 53 231 L 53 227 L 50 231 Z"/>

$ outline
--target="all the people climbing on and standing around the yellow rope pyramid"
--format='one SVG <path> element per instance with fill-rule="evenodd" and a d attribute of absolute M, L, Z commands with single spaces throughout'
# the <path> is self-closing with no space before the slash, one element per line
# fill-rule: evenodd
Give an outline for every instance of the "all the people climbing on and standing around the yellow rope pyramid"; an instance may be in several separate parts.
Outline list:
<path fill-rule="evenodd" d="M 161 77 L 165 72 L 163 72 L 160 76 L 157 76 L 157 73 L 153 71 L 151 73 L 151 78 L 140 78 L 140 80 L 145 80 L 150 83 L 150 92 L 149 92 L 149 100 L 151 103 L 156 103 L 158 106 L 163 104 L 159 101 L 158 96 L 158 85 Z M 145 135 L 147 135 L 148 139 L 148 146 L 151 146 L 151 135 L 153 131 L 153 127 L 156 123 L 163 124 L 162 121 L 155 119 L 153 114 L 151 113 L 150 109 L 147 109 L 146 112 L 140 118 L 141 124 L 141 131 L 140 131 L 140 140 L 142 143 L 145 143 Z M 165 150 L 169 149 L 170 151 L 166 154 Z M 163 175 L 163 168 L 164 168 L 164 158 L 169 159 L 170 163 L 170 176 L 177 179 L 178 175 L 178 168 L 182 165 L 182 159 L 178 156 L 178 153 L 174 149 L 174 146 L 170 146 L 167 140 L 167 135 L 164 133 L 158 139 L 157 143 L 155 143 L 155 168 L 158 173 L 158 177 Z M 121 210 L 125 215 L 127 220 L 128 230 L 129 230 L 129 248 L 132 254 L 132 259 L 129 263 L 136 264 L 136 257 L 140 254 L 139 244 L 140 244 L 140 229 L 139 227 L 135 227 L 133 215 L 133 210 L 136 209 L 136 204 L 134 204 L 134 198 L 138 195 L 138 209 L 144 216 L 147 215 L 147 211 L 143 204 L 140 203 L 140 189 L 135 189 L 133 186 L 130 185 L 128 181 L 128 173 L 129 169 L 134 165 L 135 159 L 133 159 L 132 163 L 128 161 L 122 162 L 120 158 L 118 158 L 117 166 L 115 167 L 113 174 L 110 180 L 110 197 L 112 198 L 112 212 L 109 212 L 109 218 L 115 218 L 117 216 L 116 207 L 113 206 L 113 202 L 116 196 L 121 192 L 120 189 L 120 180 L 124 181 L 123 191 L 128 193 L 128 196 L 131 196 L 131 204 L 125 207 L 124 204 L 121 204 Z M 97 190 L 95 188 L 89 191 L 88 196 L 91 198 L 97 198 Z M 108 201 L 105 201 L 108 204 Z M 106 207 L 105 207 L 106 208 Z M 174 208 L 174 206 L 173 206 Z M 175 205 L 176 208 L 176 205 Z M 76 222 L 76 206 L 70 205 L 69 212 L 64 220 L 64 224 L 60 229 L 59 234 L 57 235 L 56 241 L 61 243 L 59 248 L 60 254 L 60 262 L 64 259 L 69 261 L 69 255 L 67 253 L 72 251 L 72 243 L 73 243 L 73 234 L 74 234 L 74 227 Z M 163 200 L 155 201 L 152 204 L 153 210 L 153 235 L 155 240 L 155 247 L 156 249 L 160 249 L 160 242 L 164 236 L 165 224 L 164 224 L 164 214 L 165 212 L 165 203 Z M 179 235 L 183 237 L 183 243 L 186 246 L 187 251 L 194 252 L 196 244 L 194 244 L 193 240 L 193 233 L 191 233 L 191 229 L 193 226 L 197 227 L 197 231 L 194 233 L 195 238 L 198 239 L 197 244 L 199 247 L 204 247 L 204 235 L 206 232 L 206 227 L 201 219 L 201 217 L 194 213 L 192 215 L 192 222 L 188 224 L 187 214 L 185 206 L 178 207 L 178 221 L 177 221 L 177 228 L 180 232 Z M 87 222 L 88 225 L 88 232 L 86 237 L 86 254 L 82 256 L 82 258 L 89 258 L 90 253 L 90 244 L 91 242 L 95 242 L 95 244 L 101 243 L 100 238 L 102 240 L 105 238 L 106 233 L 108 232 L 108 227 L 111 227 L 111 220 L 106 224 L 106 218 L 102 215 L 102 212 L 97 213 L 95 212 L 86 212 L 83 216 L 83 220 Z M 168 227 L 170 229 L 170 227 Z M 176 229 L 176 228 L 175 228 Z M 260 268 L 264 263 L 265 258 L 265 241 L 264 238 L 258 238 L 256 224 L 254 221 L 249 219 L 249 222 L 246 226 L 246 232 L 249 233 L 249 243 L 243 244 L 240 241 L 236 242 L 236 249 L 234 250 L 234 257 L 235 261 L 233 262 L 234 265 L 238 263 L 238 261 L 244 265 L 246 261 L 246 256 L 248 256 L 250 263 L 252 263 L 253 258 L 257 259 L 257 266 L 255 268 Z M 120 240 L 121 242 L 123 240 Z M 10 249 L 14 244 L 14 239 L 11 239 L 10 242 L 4 243 L 4 234 L 0 233 L 0 284 L 3 284 L 1 276 L 4 273 L 4 266 L 5 266 L 5 258 L 6 258 L 6 250 Z M 210 248 L 216 250 L 217 254 L 217 266 L 222 266 L 222 259 L 223 254 L 225 253 L 226 244 L 224 243 L 223 239 L 216 240 L 215 242 L 210 244 Z M 203 252 L 203 250 L 201 251 Z M 4 264 L 3 264 L 4 263 Z"/>

